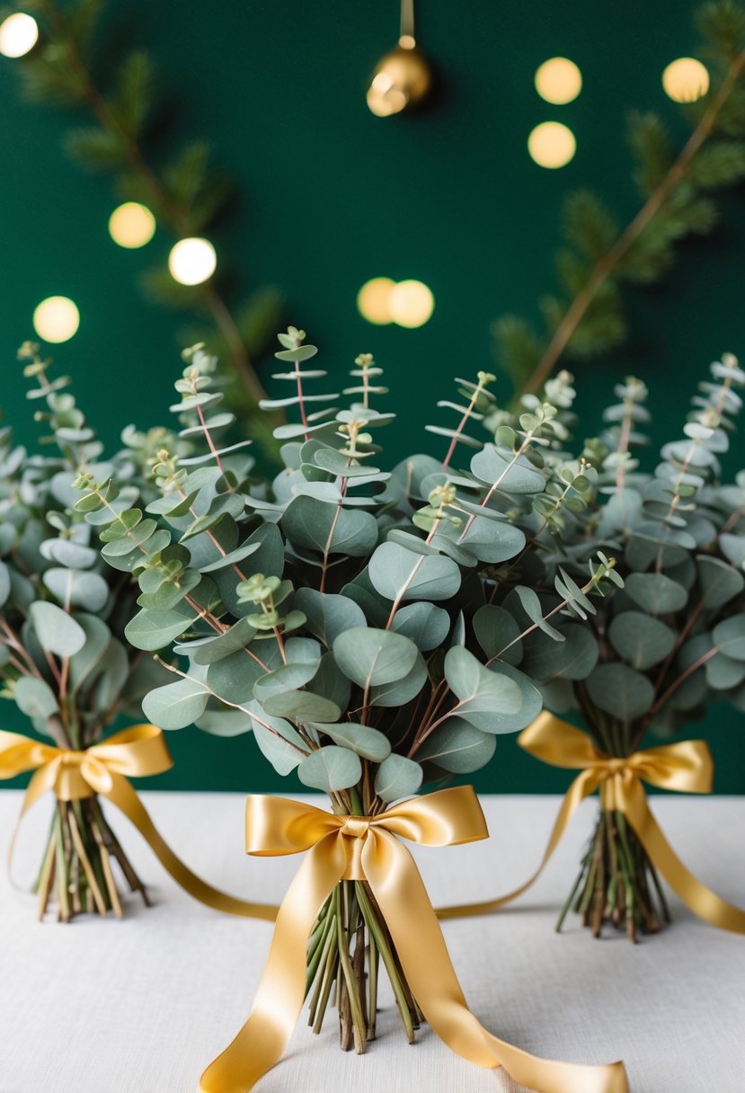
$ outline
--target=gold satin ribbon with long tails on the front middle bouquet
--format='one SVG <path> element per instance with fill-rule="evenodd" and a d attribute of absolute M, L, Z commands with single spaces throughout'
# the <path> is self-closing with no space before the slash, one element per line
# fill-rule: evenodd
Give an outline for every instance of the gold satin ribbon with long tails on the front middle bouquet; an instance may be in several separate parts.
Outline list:
<path fill-rule="evenodd" d="M 504 1067 L 542 1093 L 628 1093 L 623 1063 L 582 1067 L 537 1059 L 492 1036 L 469 1010 L 424 882 L 400 839 L 452 846 L 487 834 L 470 786 L 414 798 L 374 818 L 249 797 L 248 854 L 307 853 L 280 907 L 251 1014 L 202 1074 L 201 1093 L 247 1093 L 280 1060 L 303 1009 L 308 938 L 341 880 L 367 881 L 419 1009 L 458 1055 L 482 1067 Z"/>

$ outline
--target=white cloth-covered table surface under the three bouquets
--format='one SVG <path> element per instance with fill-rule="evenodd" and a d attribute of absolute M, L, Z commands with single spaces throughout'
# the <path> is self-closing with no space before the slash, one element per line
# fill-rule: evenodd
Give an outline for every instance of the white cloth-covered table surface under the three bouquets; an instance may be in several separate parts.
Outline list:
<path fill-rule="evenodd" d="M 143 792 L 173 849 L 213 884 L 279 902 L 297 859 L 243 853 L 244 798 Z M 319 798 L 315 799 L 319 802 Z M 0 792 L 0 853 L 21 795 Z M 16 881 L 38 865 L 48 802 L 24 821 Z M 415 849 L 435 904 L 511 890 L 541 857 L 556 797 L 485 797 L 488 842 Z M 575 916 L 554 932 L 594 819 L 587 801 L 536 884 L 490 917 L 445 924 L 469 1004 L 496 1035 L 546 1058 L 626 1062 L 632 1093 L 743 1093 L 745 938 L 696 919 L 632 947 L 593 941 Z M 673 847 L 705 883 L 745 905 L 745 799 L 655 797 Z M 120 814 L 109 819 L 150 885 L 122 921 L 36 921 L 33 896 L 0 882 L 0 1093 L 196 1093 L 199 1074 L 248 1015 L 272 927 L 196 903 Z M 519 1093 L 504 1071 L 450 1053 L 426 1026 L 409 1047 L 389 994 L 378 1039 L 362 1057 L 339 1049 L 333 1013 L 320 1036 L 300 1020 L 259 1093 Z"/>

